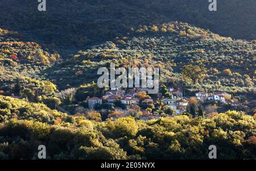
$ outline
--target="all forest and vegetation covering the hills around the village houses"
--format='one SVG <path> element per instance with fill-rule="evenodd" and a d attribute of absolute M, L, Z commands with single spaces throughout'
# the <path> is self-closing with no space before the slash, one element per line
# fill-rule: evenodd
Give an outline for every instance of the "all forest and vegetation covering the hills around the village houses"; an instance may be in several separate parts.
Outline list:
<path fill-rule="evenodd" d="M 218 159 L 256 159 L 255 1 L 208 5 L 0 2 L 0 159 L 38 159 L 40 144 L 47 159 L 209 159 L 212 144 Z M 159 68 L 160 95 L 109 106 L 96 82 L 110 63 Z M 182 114 L 163 103 L 170 87 L 188 100 Z M 228 95 L 201 102 L 199 91 Z M 92 97 L 103 101 L 94 110 Z M 112 119 L 120 108 L 127 115 Z"/>

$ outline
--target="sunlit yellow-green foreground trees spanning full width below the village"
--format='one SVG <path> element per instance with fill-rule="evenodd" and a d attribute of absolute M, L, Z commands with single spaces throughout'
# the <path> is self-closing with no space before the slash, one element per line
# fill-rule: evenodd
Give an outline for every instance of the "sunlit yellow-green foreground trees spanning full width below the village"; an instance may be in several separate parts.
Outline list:
<path fill-rule="evenodd" d="M 40 144 L 47 159 L 208 159 L 212 144 L 218 159 L 256 159 L 255 118 L 243 112 L 103 123 L 22 100 L 0 101 L 1 159 L 36 159 Z"/>

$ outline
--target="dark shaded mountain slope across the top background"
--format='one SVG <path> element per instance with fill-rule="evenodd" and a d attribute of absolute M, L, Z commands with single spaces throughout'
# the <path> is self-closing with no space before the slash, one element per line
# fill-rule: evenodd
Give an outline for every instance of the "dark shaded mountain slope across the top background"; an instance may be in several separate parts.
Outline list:
<path fill-rule="evenodd" d="M 180 20 L 235 39 L 256 39 L 254 0 L 217 2 L 208 10 L 205 0 L 48 1 L 38 11 L 37 1 L 9 0 L 0 5 L 1 27 L 19 31 L 34 41 L 83 47 L 121 36 L 131 27 Z"/>

